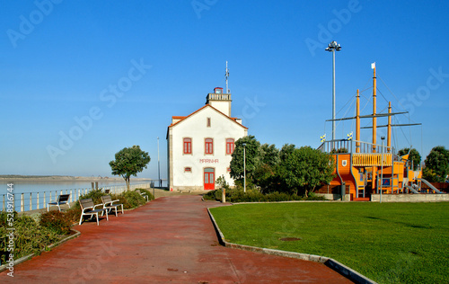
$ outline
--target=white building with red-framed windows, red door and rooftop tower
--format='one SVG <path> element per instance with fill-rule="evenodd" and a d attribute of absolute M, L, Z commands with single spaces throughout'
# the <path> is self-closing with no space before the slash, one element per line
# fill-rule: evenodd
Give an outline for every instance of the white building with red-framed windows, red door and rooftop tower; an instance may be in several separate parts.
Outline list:
<path fill-rule="evenodd" d="M 234 142 L 248 134 L 231 117 L 231 93 L 215 88 L 206 105 L 188 116 L 173 116 L 167 130 L 168 186 L 171 191 L 214 190 L 216 178 L 229 172 Z"/>

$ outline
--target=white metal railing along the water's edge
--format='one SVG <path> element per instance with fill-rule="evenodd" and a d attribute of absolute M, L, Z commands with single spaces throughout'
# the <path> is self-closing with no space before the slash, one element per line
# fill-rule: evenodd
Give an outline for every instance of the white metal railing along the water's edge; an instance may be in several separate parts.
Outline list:
<path fill-rule="evenodd" d="M 148 189 L 151 188 L 153 182 L 138 183 L 129 185 L 129 190 L 136 189 Z M 109 190 L 111 194 L 118 194 L 123 191 L 127 191 L 126 185 L 110 185 L 101 187 L 102 191 Z M 79 200 L 80 196 L 89 193 L 92 188 L 85 189 L 70 189 L 70 190 L 57 190 L 57 191 L 37 191 L 37 192 L 22 192 L 22 193 L 9 193 L 9 196 L 14 196 L 14 209 L 17 212 L 31 211 L 34 209 L 46 209 L 50 200 L 56 200 L 59 194 L 70 194 L 70 202 Z M 6 202 L 8 195 L 1 194 L 2 210 L 6 210 Z"/>

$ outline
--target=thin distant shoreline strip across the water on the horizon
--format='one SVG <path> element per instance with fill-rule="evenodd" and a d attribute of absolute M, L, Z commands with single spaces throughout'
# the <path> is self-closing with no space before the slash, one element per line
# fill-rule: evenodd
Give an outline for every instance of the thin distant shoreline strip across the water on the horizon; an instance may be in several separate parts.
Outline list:
<path fill-rule="evenodd" d="M 70 176 L 70 175 L 20 175 L 20 174 L 3 174 L 0 175 L 0 181 L 3 182 L 125 182 L 122 177 L 101 177 L 101 176 Z M 147 178 L 133 178 L 131 181 L 152 181 Z"/>

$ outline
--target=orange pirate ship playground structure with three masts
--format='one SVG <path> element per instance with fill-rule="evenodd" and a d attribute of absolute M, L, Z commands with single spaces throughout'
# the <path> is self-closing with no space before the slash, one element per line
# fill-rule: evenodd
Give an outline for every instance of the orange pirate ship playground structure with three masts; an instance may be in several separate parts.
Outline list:
<path fill-rule="evenodd" d="M 421 165 L 413 164 L 407 155 L 397 155 L 392 146 L 392 128 L 413 127 L 420 123 L 392 124 L 394 115 L 404 112 L 392 112 L 392 102 L 389 102 L 388 112 L 376 112 L 376 75 L 375 64 L 372 65 L 373 75 L 373 113 L 360 115 L 360 93 L 357 90 L 356 116 L 326 121 L 355 120 L 356 138 L 352 133 L 346 139 L 325 140 L 321 137 L 322 152 L 329 153 L 335 162 L 334 178 L 329 184 L 321 187 L 318 193 L 328 193 L 341 200 L 363 201 L 412 201 L 412 200 L 447 200 L 447 194 L 436 189 L 430 182 L 422 178 Z M 378 118 L 387 118 L 386 125 L 377 125 Z M 371 119 L 372 126 L 361 128 L 360 121 Z M 376 140 L 377 129 L 386 128 L 386 145 L 384 137 L 382 144 Z M 361 141 L 360 129 L 372 129 L 371 142 Z M 410 146 L 411 148 L 411 146 Z M 426 184 L 426 187 L 424 187 Z"/>

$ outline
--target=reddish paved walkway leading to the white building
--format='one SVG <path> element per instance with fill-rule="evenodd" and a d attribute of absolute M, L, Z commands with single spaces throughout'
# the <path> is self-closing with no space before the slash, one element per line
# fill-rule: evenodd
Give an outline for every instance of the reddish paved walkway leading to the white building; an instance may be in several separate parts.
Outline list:
<path fill-rule="evenodd" d="M 110 221 L 84 222 L 81 236 L 14 267 L 1 283 L 351 283 L 317 262 L 218 244 L 199 196 L 173 196 Z"/>

